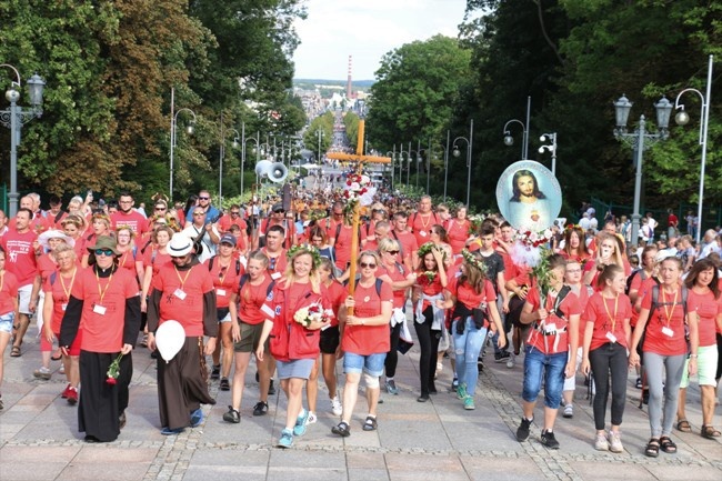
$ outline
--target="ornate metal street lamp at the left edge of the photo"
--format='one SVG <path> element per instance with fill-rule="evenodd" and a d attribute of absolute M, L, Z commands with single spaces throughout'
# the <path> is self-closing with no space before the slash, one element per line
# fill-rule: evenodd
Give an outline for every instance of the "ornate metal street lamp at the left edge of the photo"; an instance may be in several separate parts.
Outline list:
<path fill-rule="evenodd" d="M 10 102 L 10 110 L 0 110 L 0 123 L 10 129 L 10 193 L 8 193 L 8 198 L 10 199 L 9 217 L 14 217 L 18 212 L 18 197 L 20 197 L 18 193 L 18 146 L 20 144 L 20 133 L 24 123 L 42 116 L 42 90 L 46 87 L 46 81 L 38 73 L 28 79 L 28 93 L 30 94 L 32 108 L 26 110 L 18 107 L 18 100 L 20 100 L 19 90 L 22 88 L 18 69 L 9 63 L 1 63 L 0 67 L 11 69 L 17 78 L 17 81 L 12 81 L 10 88 L 6 91 L 6 99 Z"/>

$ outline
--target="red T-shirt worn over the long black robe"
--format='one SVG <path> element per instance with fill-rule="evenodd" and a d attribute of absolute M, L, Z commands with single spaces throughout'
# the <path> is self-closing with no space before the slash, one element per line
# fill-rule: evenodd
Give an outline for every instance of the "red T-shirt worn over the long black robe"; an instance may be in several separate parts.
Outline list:
<path fill-rule="evenodd" d="M 59 282 L 59 281 L 57 281 Z M 118 352 L 123 347 L 126 300 L 138 295 L 138 282 L 127 270 L 118 269 L 111 277 L 97 278 L 93 268 L 78 272 L 72 294 L 83 301 L 80 327 L 83 351 Z M 99 312 L 104 308 L 104 313 Z"/>

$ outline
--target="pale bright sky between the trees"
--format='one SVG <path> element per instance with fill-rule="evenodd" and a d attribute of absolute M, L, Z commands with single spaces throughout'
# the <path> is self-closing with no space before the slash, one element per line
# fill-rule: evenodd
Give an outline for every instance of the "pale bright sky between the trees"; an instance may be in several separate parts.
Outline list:
<path fill-rule="evenodd" d="M 307 0 L 294 28 L 297 79 L 373 80 L 384 53 L 438 33 L 457 37 L 465 0 Z"/>

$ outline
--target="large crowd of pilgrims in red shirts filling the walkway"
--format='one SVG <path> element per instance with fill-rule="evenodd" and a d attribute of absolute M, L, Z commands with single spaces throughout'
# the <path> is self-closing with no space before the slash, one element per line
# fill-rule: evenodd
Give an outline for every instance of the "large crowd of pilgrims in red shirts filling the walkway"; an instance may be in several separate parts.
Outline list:
<path fill-rule="evenodd" d="M 39 196 L 23 197 L 13 219 L 0 212 L 0 353 L 10 345 L 11 357 L 22 355 L 34 315 L 41 365 L 33 374 L 49 380 L 51 360 L 62 361 L 61 397 L 78 404 L 88 442 L 120 434 L 132 352 L 141 347 L 158 359 L 163 434 L 203 421 L 201 405 L 215 402 L 209 382 L 230 391 L 223 420 L 239 423 L 252 357 L 259 382 L 252 414 L 267 414 L 274 377 L 288 398 L 279 447 L 290 448 L 315 422 L 319 373 L 328 392 L 321 409 L 339 417 L 332 432 L 348 437 L 354 429 L 361 381 L 360 428 L 373 431 L 381 380 L 389 395 L 399 395 L 398 355 L 413 342 L 410 325 L 420 351 L 418 402 L 433 399 L 449 363 L 448 388 L 460 409 L 473 411 L 484 349 L 493 348 L 494 361 L 509 369 L 519 362 L 520 442 L 530 435 L 543 389 L 540 441 L 559 448 L 555 418 L 574 415 L 580 372 L 594 391 L 594 448 L 622 452 L 632 369 L 649 405 L 646 455 L 674 453 L 673 427 L 692 429 L 684 410 L 691 377 L 701 391 L 701 435 L 720 437 L 713 427 L 722 333 L 715 254 L 683 265 L 673 251 L 650 244 L 632 269 L 613 220 L 595 234 L 569 224 L 555 227 L 540 282 L 513 254 L 515 232 L 503 219 L 472 221 L 463 206 L 434 207 L 422 197 L 415 206 L 395 199 L 364 207 L 352 259 L 344 202 L 313 202 L 297 199 L 288 212 L 280 200 L 222 212 L 201 191 L 185 204 L 156 198 L 146 214 L 128 192 L 104 206 L 89 193 L 67 209 L 53 197 L 48 211 Z M 156 333 L 170 320 L 180 322 L 184 339 L 162 359 Z"/>

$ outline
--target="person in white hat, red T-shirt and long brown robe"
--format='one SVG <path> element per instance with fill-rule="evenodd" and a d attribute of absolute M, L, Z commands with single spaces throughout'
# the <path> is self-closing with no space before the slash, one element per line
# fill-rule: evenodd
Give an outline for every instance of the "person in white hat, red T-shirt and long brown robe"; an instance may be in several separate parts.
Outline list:
<path fill-rule="evenodd" d="M 201 404 L 214 404 L 201 374 L 205 369 L 200 347 L 208 335 L 204 355 L 215 350 L 218 318 L 215 290 L 208 267 L 192 253 L 193 243 L 182 232 L 173 234 L 168 244 L 172 262 L 162 265 L 154 279 L 148 303 L 148 348 L 156 350 L 156 331 L 166 321 L 177 320 L 185 340 L 172 359 L 158 358 L 158 402 L 161 434 L 182 432 L 203 422 Z"/>

